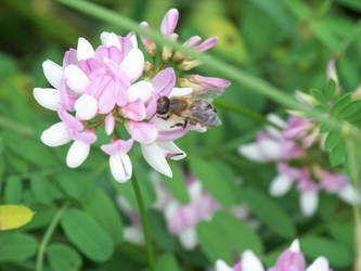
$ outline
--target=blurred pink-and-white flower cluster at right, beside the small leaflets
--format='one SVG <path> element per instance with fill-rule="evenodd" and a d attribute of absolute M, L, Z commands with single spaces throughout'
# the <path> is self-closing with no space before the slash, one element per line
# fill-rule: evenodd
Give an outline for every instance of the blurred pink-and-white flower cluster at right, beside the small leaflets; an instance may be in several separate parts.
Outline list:
<path fill-rule="evenodd" d="M 276 162 L 278 176 L 271 182 L 271 195 L 282 196 L 296 183 L 306 216 L 314 214 L 320 191 L 337 194 L 350 204 L 358 201 L 349 178 L 337 168 L 331 172 L 323 165 L 326 159 L 323 157 L 323 138 L 315 122 L 294 116 L 287 122 L 275 115 L 269 115 L 269 119 L 282 130 L 267 127 L 255 143 L 241 145 L 238 152 L 255 162 Z"/>

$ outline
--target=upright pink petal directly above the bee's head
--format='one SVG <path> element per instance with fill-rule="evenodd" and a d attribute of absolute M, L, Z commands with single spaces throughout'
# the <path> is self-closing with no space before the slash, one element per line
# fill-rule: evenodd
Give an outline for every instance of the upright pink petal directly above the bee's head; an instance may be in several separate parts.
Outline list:
<path fill-rule="evenodd" d="M 152 85 L 158 95 L 168 96 L 176 85 L 175 69 L 168 67 L 160 70 L 152 79 Z"/>

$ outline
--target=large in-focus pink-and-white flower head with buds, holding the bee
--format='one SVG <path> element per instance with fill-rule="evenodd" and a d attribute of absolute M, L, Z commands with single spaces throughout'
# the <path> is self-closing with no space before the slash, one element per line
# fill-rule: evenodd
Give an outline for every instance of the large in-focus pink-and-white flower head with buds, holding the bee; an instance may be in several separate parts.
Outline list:
<path fill-rule="evenodd" d="M 177 22 L 178 11 L 172 9 L 162 22 L 162 34 L 177 39 Z M 149 27 L 146 23 L 141 25 Z M 141 40 L 155 57 L 154 42 L 144 37 Z M 133 142 L 141 144 L 145 160 L 154 169 L 171 177 L 166 158 L 185 157 L 173 141 L 189 130 L 205 129 L 199 125 L 179 127 L 171 119 L 158 118 L 159 96 L 188 95 L 195 89 L 224 89 L 229 81 L 190 75 L 190 79 L 183 79 L 181 87 L 186 85 L 184 80 L 192 86 L 177 88 L 172 61 L 177 60 L 183 70 L 196 66 L 195 61 L 164 48 L 163 60 L 157 62 L 155 57 L 155 63 L 149 65 L 133 33 L 126 37 L 102 33 L 101 41 L 94 49 L 88 40 L 79 38 L 77 49 L 65 53 L 62 66 L 49 60 L 43 62 L 43 73 L 52 88 L 35 88 L 34 96 L 41 106 L 57 112 L 61 121 L 44 130 L 41 141 L 49 146 L 73 142 L 66 165 L 76 168 L 87 158 L 91 144 L 96 141 L 96 129 L 102 127 L 109 143 L 101 150 L 109 155 L 111 170 L 117 181 L 125 182 L 132 175 L 128 152 Z M 216 46 L 217 38 L 199 42 L 195 36 L 184 46 L 203 52 Z M 127 134 L 121 134 L 117 126 L 124 126 Z"/>

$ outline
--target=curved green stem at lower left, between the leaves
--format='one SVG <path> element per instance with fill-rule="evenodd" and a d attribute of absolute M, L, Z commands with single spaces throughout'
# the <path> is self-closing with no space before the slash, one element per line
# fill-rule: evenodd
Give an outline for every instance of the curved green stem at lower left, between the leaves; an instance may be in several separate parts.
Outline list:
<path fill-rule="evenodd" d="M 46 234 L 43 235 L 41 243 L 39 245 L 39 250 L 38 250 L 38 255 L 37 255 L 37 262 L 36 262 L 36 271 L 42 271 L 42 264 L 43 264 L 43 256 L 46 254 L 47 250 L 47 246 L 48 243 L 51 238 L 51 236 L 53 235 L 56 225 L 59 224 L 60 219 L 62 218 L 64 211 L 66 210 L 66 208 L 69 206 L 69 202 L 66 202 L 63 207 L 61 209 L 57 210 L 57 212 L 55 214 L 53 220 L 51 221 L 50 225 L 48 227 Z"/>

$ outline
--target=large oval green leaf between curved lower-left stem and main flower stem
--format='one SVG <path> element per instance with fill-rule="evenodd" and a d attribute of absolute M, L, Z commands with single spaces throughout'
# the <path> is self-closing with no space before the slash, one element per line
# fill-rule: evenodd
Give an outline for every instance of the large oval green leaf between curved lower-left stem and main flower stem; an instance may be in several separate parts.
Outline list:
<path fill-rule="evenodd" d="M 103 190 L 95 189 L 81 204 L 85 211 L 112 236 L 114 245 L 119 244 L 123 240 L 123 222 L 109 196 Z"/>

